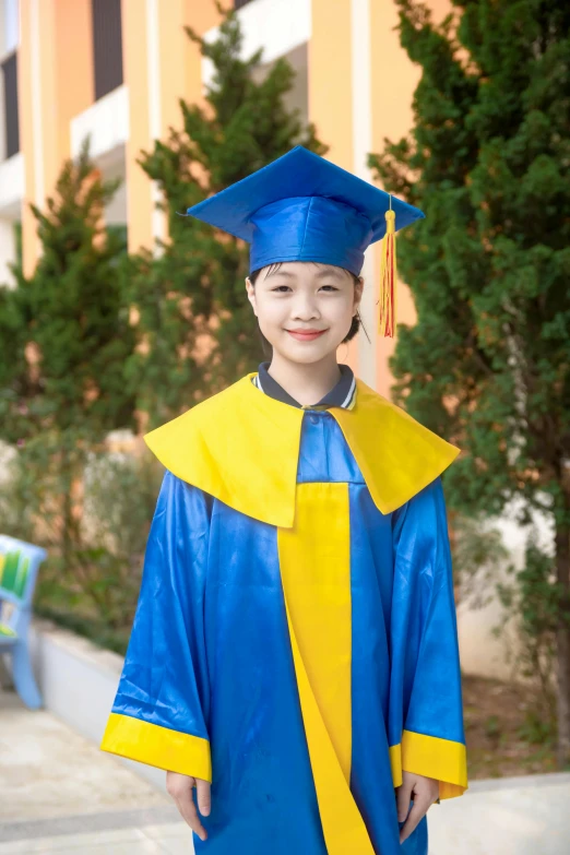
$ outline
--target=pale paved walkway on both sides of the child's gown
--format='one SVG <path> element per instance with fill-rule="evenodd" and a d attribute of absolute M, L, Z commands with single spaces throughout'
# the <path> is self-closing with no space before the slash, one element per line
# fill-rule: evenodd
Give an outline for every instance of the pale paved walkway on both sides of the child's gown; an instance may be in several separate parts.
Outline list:
<path fill-rule="evenodd" d="M 430 855 L 568 855 L 570 773 L 474 781 L 428 814 Z M 171 799 L 0 690 L 0 855 L 192 855 Z M 241 853 L 236 853 L 241 855 Z"/>

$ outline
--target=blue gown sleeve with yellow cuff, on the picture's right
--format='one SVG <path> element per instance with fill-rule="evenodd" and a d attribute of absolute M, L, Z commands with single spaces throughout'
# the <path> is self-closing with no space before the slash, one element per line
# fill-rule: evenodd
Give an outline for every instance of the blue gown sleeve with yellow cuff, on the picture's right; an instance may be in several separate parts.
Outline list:
<path fill-rule="evenodd" d="M 441 478 L 392 518 L 391 644 L 401 709 L 401 768 L 439 781 L 439 798 L 467 788 L 458 624 Z"/>

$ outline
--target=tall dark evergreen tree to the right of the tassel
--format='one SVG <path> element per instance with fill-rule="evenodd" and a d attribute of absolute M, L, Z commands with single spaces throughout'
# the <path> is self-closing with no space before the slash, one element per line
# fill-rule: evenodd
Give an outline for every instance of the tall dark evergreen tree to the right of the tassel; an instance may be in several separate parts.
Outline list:
<path fill-rule="evenodd" d="M 418 321 L 401 325 L 395 396 L 463 454 L 451 506 L 511 499 L 556 531 L 558 762 L 570 762 L 570 5 L 453 0 L 436 25 L 396 0 L 421 68 L 408 138 L 372 155 L 426 212 L 400 239 Z"/>

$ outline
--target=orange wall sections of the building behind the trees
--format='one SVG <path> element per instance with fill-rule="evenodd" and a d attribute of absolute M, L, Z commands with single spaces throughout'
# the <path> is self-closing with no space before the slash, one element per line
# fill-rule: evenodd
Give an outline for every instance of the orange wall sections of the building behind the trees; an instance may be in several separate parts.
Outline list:
<path fill-rule="evenodd" d="M 156 0 L 158 15 L 159 132 L 180 128 L 179 98 L 203 103 L 202 58 L 183 25 L 199 34 L 219 22 L 213 0 Z M 320 139 L 330 145 L 328 157 L 354 170 L 353 69 L 351 0 L 312 0 L 312 38 L 309 50 L 309 118 Z M 449 0 L 431 0 L 436 19 L 449 11 Z M 136 163 L 141 150 L 152 151 L 149 104 L 149 56 L 146 3 L 122 0 L 123 73 L 129 88 L 130 139 L 126 151 L 126 189 L 129 222 L 129 249 L 152 247 L 153 207 L 151 187 Z M 419 79 L 400 46 L 394 31 L 397 13 L 393 0 L 370 0 L 371 131 L 372 151 L 381 151 L 383 138 L 404 135 L 413 120 L 412 97 Z M 39 110 L 41 140 L 34 140 L 33 12 L 39 27 Z M 19 51 L 21 144 L 25 153 L 26 200 L 37 199 L 36 163 L 43 171 L 44 191 L 51 193 L 64 157 L 70 154 L 70 120 L 93 103 L 93 38 L 91 0 L 21 0 L 21 49 Z M 363 34 L 364 36 L 364 34 Z M 37 115 L 37 109 L 36 109 Z M 35 152 L 34 145 L 37 151 Z M 27 204 L 23 210 L 24 268 L 35 265 L 38 245 L 36 223 Z M 379 271 L 379 246 L 375 269 Z M 379 276 L 375 273 L 375 280 Z M 377 292 L 378 282 L 367 283 Z M 413 323 L 415 312 L 408 289 L 399 286 L 399 320 Z M 376 335 L 375 325 L 368 330 Z M 361 333 L 363 334 L 363 333 Z M 377 341 L 377 388 L 389 394 L 392 378 L 388 359 L 394 341 Z M 339 358 L 358 370 L 355 341 L 343 345 Z"/>

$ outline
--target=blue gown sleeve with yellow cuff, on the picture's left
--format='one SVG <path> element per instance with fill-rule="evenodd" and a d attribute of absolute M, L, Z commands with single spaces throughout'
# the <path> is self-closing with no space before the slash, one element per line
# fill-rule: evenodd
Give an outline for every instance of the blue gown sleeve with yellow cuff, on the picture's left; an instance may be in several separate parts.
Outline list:
<path fill-rule="evenodd" d="M 100 750 L 212 780 L 203 602 L 207 494 L 166 471 Z"/>

